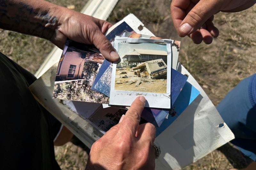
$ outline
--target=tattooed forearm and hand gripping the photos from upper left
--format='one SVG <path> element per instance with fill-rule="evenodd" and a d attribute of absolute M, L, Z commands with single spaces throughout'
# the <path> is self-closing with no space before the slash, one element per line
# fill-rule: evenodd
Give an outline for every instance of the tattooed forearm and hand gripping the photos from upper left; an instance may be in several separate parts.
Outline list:
<path fill-rule="evenodd" d="M 84 15 L 44 0 L 9 0 L 0 3 L 0 28 L 41 37 L 63 48 L 67 38 L 93 44 L 110 61 L 119 55 L 104 33 L 107 21 Z"/>

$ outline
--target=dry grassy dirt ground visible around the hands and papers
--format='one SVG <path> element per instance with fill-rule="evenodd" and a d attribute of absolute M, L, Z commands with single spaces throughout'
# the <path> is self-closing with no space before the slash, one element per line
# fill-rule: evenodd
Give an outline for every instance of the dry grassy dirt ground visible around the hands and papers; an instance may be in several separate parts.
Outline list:
<path fill-rule="evenodd" d="M 80 11 L 86 0 L 48 0 L 62 6 L 75 5 Z M 135 14 L 156 36 L 181 41 L 179 61 L 217 105 L 237 83 L 256 72 L 256 5 L 238 13 L 218 13 L 214 23 L 220 36 L 211 45 L 195 45 L 180 38 L 170 18 L 171 0 L 119 0 L 108 21 L 116 23 L 127 14 Z M 0 30 L 0 51 L 35 73 L 53 45 L 46 40 Z M 72 143 L 55 147 L 62 169 L 84 169 L 87 153 Z M 232 145 L 226 144 L 184 169 L 225 170 L 249 163 Z"/>

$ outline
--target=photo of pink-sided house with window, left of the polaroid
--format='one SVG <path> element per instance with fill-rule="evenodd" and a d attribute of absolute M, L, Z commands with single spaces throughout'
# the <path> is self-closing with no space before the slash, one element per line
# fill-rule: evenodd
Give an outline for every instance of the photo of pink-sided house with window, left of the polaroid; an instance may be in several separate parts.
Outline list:
<path fill-rule="evenodd" d="M 67 41 L 56 73 L 53 98 L 108 103 L 109 98 L 91 90 L 104 57 L 92 45 Z"/>

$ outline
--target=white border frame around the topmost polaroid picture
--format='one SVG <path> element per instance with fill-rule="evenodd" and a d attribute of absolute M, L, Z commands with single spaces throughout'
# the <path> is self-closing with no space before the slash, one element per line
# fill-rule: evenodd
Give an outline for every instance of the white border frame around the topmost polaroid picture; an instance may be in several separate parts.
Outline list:
<path fill-rule="evenodd" d="M 172 40 L 157 40 L 148 38 L 121 38 L 116 37 L 115 39 L 115 49 L 118 52 L 119 43 L 157 43 L 165 44 L 167 48 L 167 87 L 166 93 L 153 93 L 153 92 L 136 92 L 136 91 L 123 91 L 115 90 L 115 79 L 116 79 L 116 64 L 113 63 L 112 78 L 111 78 L 111 88 L 110 88 L 110 99 L 109 105 L 121 105 L 121 106 L 131 106 L 132 102 L 138 96 L 144 96 L 146 98 L 145 107 L 154 108 L 171 108 L 171 69 L 172 69 Z"/>

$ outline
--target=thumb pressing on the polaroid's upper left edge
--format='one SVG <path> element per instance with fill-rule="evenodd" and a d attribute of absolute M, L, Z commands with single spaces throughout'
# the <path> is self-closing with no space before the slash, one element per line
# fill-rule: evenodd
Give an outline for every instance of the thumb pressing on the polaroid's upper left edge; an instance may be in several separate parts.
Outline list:
<path fill-rule="evenodd" d="M 108 41 L 105 35 L 98 28 L 92 37 L 92 43 L 96 48 L 100 50 L 100 53 L 110 61 L 116 61 L 119 59 L 119 55 L 116 53 L 115 48 Z"/>

